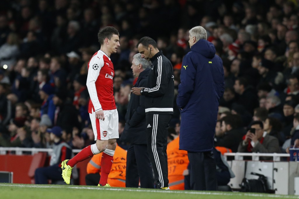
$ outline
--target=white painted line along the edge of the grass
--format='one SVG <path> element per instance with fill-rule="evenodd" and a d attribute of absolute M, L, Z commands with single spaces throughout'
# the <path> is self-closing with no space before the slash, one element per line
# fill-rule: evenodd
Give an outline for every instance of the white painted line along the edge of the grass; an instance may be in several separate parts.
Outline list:
<path fill-rule="evenodd" d="M 10 187 L 30 187 L 30 188 L 67 188 L 67 189 L 103 189 L 103 187 L 85 187 L 85 186 L 68 186 L 68 185 L 34 185 L 34 184 L 2 184 L 0 186 Z M 181 194 L 195 194 L 195 195 L 230 195 L 230 196 L 252 196 L 252 197 L 269 197 L 269 198 L 299 198 L 299 196 L 292 195 L 276 195 L 276 194 L 258 194 L 258 193 L 224 193 L 224 192 L 207 192 L 207 191 L 179 191 L 179 190 L 155 190 L 155 189 L 119 189 L 119 188 L 104 188 L 110 191 L 128 191 L 128 192 L 151 192 L 151 193 L 181 193 Z"/>

